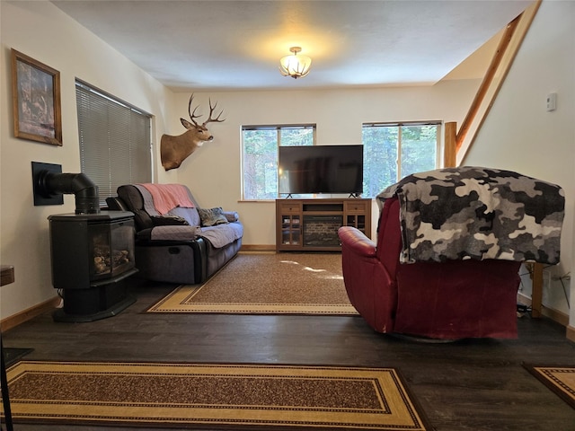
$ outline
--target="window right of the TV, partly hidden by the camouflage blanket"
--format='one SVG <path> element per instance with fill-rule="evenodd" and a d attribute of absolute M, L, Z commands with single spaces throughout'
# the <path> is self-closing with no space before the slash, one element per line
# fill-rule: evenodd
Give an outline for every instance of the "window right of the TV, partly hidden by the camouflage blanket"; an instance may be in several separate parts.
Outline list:
<path fill-rule="evenodd" d="M 376 197 L 411 173 L 437 169 L 439 131 L 439 122 L 364 124 L 364 196 Z"/>

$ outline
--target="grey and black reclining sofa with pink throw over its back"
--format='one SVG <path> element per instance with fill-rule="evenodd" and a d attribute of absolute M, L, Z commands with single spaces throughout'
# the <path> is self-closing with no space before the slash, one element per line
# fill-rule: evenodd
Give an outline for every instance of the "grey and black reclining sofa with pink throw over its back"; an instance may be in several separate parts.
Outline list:
<path fill-rule="evenodd" d="M 234 258 L 243 225 L 233 211 L 202 208 L 181 184 L 128 184 L 108 198 L 111 210 L 131 211 L 136 268 L 149 280 L 199 284 Z"/>

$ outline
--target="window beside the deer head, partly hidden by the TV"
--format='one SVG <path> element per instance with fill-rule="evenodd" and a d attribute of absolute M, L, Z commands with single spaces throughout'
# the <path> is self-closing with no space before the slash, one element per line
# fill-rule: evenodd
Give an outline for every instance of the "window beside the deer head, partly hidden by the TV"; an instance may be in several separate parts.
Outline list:
<path fill-rule="evenodd" d="M 279 145 L 314 145 L 315 125 L 243 126 L 243 198 L 278 198 Z"/>

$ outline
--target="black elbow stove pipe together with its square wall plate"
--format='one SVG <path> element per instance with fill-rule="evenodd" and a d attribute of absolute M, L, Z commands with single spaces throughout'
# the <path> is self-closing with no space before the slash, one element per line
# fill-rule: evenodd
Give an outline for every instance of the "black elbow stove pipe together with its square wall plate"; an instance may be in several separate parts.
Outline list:
<path fill-rule="evenodd" d="M 59 165 L 32 165 L 34 205 L 57 205 L 60 202 L 54 204 L 50 199 L 62 194 L 74 194 L 75 214 L 99 214 L 100 193 L 93 180 L 84 173 L 56 172 L 54 166 Z"/>

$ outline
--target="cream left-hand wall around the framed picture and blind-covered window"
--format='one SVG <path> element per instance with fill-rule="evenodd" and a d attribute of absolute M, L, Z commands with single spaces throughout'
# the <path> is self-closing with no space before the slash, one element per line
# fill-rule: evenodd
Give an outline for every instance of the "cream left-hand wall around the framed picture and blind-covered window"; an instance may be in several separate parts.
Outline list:
<path fill-rule="evenodd" d="M 74 196 L 65 195 L 64 206 L 34 207 L 31 162 L 80 172 L 75 78 L 154 114 L 157 136 L 164 133 L 164 118 L 172 117 L 165 110 L 173 106 L 173 93 L 45 0 L 2 1 L 0 12 L 0 261 L 14 265 L 16 279 L 0 290 L 0 316 L 5 318 L 56 295 L 47 217 L 73 212 Z M 13 137 L 11 48 L 60 72 L 61 147 Z M 163 170 L 159 174 L 163 180 Z"/>

